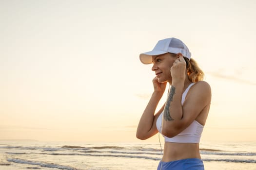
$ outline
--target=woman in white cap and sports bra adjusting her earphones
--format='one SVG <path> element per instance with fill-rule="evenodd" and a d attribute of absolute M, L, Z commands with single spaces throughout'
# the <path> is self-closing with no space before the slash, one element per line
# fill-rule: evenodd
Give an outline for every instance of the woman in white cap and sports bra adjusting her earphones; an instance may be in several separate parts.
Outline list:
<path fill-rule="evenodd" d="M 153 51 L 139 55 L 143 64 L 153 63 L 154 92 L 137 129 L 139 139 L 158 132 L 164 136 L 164 152 L 158 170 L 204 170 L 199 141 L 211 103 L 211 87 L 187 46 L 177 38 L 159 40 Z M 155 113 L 165 87 L 167 101 Z"/>

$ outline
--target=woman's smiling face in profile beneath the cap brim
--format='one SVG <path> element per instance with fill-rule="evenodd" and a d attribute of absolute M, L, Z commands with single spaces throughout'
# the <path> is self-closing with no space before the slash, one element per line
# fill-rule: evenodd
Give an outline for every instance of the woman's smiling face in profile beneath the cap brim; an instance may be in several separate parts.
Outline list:
<path fill-rule="evenodd" d="M 161 55 L 152 56 L 153 67 L 152 71 L 155 71 L 158 77 L 158 82 L 172 82 L 171 67 L 177 58 L 176 54 L 165 53 Z"/>

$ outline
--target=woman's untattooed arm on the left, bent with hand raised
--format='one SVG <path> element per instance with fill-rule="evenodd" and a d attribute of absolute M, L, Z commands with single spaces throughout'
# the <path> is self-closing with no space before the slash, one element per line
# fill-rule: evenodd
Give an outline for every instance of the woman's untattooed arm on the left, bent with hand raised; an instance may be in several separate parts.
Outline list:
<path fill-rule="evenodd" d="M 151 136 L 154 136 L 158 133 L 156 121 L 160 113 L 163 111 L 164 106 L 155 114 L 156 108 L 158 106 L 158 102 L 160 101 L 166 83 L 160 84 L 158 83 L 158 79 L 153 79 L 154 92 L 139 120 L 136 137 L 145 140 Z"/>

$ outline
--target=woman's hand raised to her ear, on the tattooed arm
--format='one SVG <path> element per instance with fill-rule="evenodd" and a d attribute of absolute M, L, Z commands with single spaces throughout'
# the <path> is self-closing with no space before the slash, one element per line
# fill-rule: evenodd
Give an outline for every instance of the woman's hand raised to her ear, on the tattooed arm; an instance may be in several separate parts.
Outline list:
<path fill-rule="evenodd" d="M 171 67 L 171 75 L 173 82 L 180 82 L 184 83 L 186 78 L 186 61 L 181 56 L 178 57 L 175 62 L 173 63 L 173 66 Z"/>

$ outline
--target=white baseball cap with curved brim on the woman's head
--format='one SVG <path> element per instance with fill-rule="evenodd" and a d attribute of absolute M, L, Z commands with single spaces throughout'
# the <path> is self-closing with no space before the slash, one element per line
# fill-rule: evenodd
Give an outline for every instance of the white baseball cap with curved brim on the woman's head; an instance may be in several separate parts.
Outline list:
<path fill-rule="evenodd" d="M 159 40 L 152 51 L 139 54 L 139 59 L 143 64 L 151 64 L 153 55 L 160 55 L 165 53 L 181 53 L 183 57 L 191 58 L 191 52 L 188 47 L 177 38 L 166 38 Z"/>

